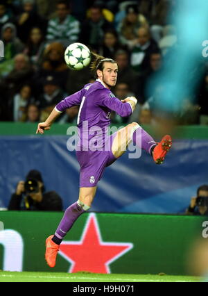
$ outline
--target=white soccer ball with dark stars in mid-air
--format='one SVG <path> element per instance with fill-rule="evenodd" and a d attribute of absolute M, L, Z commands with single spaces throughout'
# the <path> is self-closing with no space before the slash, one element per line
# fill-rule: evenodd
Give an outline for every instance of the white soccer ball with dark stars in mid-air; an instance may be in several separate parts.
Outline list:
<path fill-rule="evenodd" d="M 72 43 L 67 47 L 64 54 L 67 66 L 74 70 L 81 70 L 87 67 L 91 61 L 89 48 L 82 43 Z"/>

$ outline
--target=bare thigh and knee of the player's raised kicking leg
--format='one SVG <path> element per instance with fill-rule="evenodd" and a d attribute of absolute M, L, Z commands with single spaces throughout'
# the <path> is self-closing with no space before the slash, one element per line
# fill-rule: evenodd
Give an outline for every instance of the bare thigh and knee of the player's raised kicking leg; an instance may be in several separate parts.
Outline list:
<path fill-rule="evenodd" d="M 137 122 L 132 122 L 120 129 L 112 142 L 112 154 L 115 158 L 119 158 L 126 151 L 128 144 L 132 140 L 132 133 L 137 129 Z"/>

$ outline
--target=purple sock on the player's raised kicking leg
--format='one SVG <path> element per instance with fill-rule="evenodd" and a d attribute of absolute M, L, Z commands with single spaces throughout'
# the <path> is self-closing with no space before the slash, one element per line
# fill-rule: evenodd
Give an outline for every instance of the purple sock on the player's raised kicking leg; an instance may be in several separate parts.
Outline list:
<path fill-rule="evenodd" d="M 144 149 L 149 154 L 151 154 L 152 148 L 157 145 L 153 138 L 146 131 L 144 131 L 141 126 L 138 126 L 133 132 L 132 141 L 135 145 L 141 149 Z"/>

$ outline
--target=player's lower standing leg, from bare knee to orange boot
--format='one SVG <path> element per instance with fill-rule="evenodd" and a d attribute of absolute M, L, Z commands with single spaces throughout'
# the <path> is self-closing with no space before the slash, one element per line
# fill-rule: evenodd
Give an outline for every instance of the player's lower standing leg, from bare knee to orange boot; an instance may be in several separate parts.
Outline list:
<path fill-rule="evenodd" d="M 85 213 L 85 211 L 89 210 L 94 196 L 96 194 L 96 186 L 89 188 L 80 188 L 79 199 L 77 202 L 69 206 L 64 213 L 64 217 L 60 224 L 58 225 L 58 229 L 55 231 L 54 236 L 49 236 L 46 239 L 46 262 L 48 265 L 53 268 L 55 266 L 56 257 L 59 250 L 59 245 L 62 242 L 64 236 L 67 235 L 73 223 L 76 222 L 78 217 Z"/>

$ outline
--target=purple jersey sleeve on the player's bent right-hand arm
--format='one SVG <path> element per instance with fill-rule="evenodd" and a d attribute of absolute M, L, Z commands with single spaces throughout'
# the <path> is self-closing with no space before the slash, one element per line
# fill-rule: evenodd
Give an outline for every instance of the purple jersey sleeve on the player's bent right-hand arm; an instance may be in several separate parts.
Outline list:
<path fill-rule="evenodd" d="M 106 90 L 99 90 L 98 94 L 98 105 L 109 108 L 110 110 L 116 112 L 121 117 L 126 117 L 132 115 L 132 106 L 126 102 L 122 103 L 116 97 L 112 97 L 112 92 Z"/>

